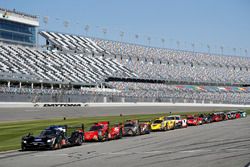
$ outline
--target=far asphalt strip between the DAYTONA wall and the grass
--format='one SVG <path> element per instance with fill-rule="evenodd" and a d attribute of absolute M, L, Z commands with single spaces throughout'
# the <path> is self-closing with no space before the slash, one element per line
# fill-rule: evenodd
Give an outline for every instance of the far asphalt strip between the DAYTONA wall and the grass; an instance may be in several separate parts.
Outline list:
<path fill-rule="evenodd" d="M 175 112 L 219 111 L 230 108 L 222 107 L 187 107 L 187 106 L 131 106 L 131 107 L 58 107 L 58 108 L 0 108 L 0 121 L 40 120 L 62 117 L 89 117 L 111 115 L 133 115 Z M 232 109 L 232 108 L 231 108 Z"/>

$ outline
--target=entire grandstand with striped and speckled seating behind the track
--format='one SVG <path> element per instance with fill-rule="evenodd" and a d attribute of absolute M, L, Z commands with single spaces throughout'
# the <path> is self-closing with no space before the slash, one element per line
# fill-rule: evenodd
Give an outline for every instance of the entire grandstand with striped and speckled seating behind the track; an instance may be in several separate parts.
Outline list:
<path fill-rule="evenodd" d="M 250 59 L 40 31 L 0 44 L 0 101 L 250 103 Z"/>

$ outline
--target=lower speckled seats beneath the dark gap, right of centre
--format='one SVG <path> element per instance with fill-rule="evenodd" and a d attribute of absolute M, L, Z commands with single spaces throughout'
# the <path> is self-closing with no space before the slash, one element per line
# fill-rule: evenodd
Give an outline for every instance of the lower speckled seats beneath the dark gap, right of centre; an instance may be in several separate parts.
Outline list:
<path fill-rule="evenodd" d="M 207 87 L 207 91 L 187 89 L 180 85 L 166 85 L 153 83 L 111 82 L 110 86 L 119 90 L 122 96 L 155 97 L 155 98 L 181 98 L 193 100 L 206 100 L 218 102 L 232 102 L 239 104 L 250 103 L 250 88 L 246 91 L 226 91 L 223 87 Z M 222 88 L 224 90 L 222 90 Z M 232 87 L 235 88 L 235 87 Z M 217 90 L 219 89 L 219 90 Z"/>

